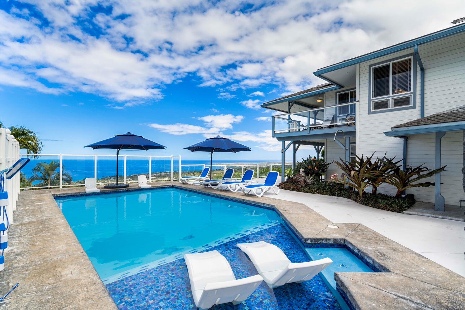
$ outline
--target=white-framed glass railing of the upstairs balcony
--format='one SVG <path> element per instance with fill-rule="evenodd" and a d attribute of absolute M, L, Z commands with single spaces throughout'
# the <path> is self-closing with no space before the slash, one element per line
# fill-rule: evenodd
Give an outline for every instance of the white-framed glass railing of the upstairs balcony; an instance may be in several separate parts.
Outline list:
<path fill-rule="evenodd" d="M 355 125 L 358 101 L 273 116 L 273 132 L 302 132 Z"/>

